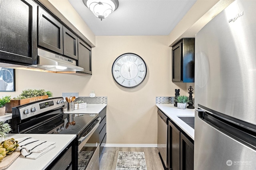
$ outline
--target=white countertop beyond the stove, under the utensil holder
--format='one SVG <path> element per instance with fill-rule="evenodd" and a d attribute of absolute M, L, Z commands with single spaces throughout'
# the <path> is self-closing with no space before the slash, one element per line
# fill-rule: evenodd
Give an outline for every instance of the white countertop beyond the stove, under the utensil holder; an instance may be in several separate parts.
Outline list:
<path fill-rule="evenodd" d="M 92 113 L 92 114 L 98 114 L 100 113 L 107 104 L 87 104 L 87 107 L 84 109 L 76 109 L 74 111 L 67 111 L 67 109 L 64 109 L 64 113 L 72 113 L 72 114 L 86 114 L 86 113 Z"/>

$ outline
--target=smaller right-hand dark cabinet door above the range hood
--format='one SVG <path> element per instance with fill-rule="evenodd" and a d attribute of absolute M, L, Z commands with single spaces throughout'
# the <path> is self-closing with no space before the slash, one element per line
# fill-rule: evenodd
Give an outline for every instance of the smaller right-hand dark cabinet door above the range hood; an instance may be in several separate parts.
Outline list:
<path fill-rule="evenodd" d="M 63 27 L 63 50 L 64 55 L 72 59 L 78 59 L 78 37 L 66 27 Z"/>

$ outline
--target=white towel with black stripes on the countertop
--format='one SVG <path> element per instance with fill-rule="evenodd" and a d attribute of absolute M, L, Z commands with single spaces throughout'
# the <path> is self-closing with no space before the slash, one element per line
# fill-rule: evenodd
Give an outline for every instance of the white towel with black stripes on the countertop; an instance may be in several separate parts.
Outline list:
<path fill-rule="evenodd" d="M 18 141 L 16 150 L 26 158 L 36 159 L 55 147 L 56 142 L 39 141 L 31 137 L 15 139 Z"/>

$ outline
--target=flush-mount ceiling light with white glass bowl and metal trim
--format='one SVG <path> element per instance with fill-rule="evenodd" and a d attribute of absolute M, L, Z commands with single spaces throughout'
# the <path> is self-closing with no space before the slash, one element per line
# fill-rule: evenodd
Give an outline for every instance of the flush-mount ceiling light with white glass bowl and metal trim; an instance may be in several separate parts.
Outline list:
<path fill-rule="evenodd" d="M 100 20 L 107 18 L 118 8 L 118 0 L 83 0 L 84 4 Z"/>

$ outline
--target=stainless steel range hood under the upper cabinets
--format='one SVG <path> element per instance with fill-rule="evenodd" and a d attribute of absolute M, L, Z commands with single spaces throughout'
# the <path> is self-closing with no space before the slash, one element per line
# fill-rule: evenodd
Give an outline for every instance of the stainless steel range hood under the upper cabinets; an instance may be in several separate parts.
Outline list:
<path fill-rule="evenodd" d="M 76 60 L 72 60 L 60 55 L 56 55 L 43 49 L 37 49 L 38 62 L 36 68 L 54 71 L 54 72 L 70 72 L 83 71 L 84 68 L 76 66 Z"/>

